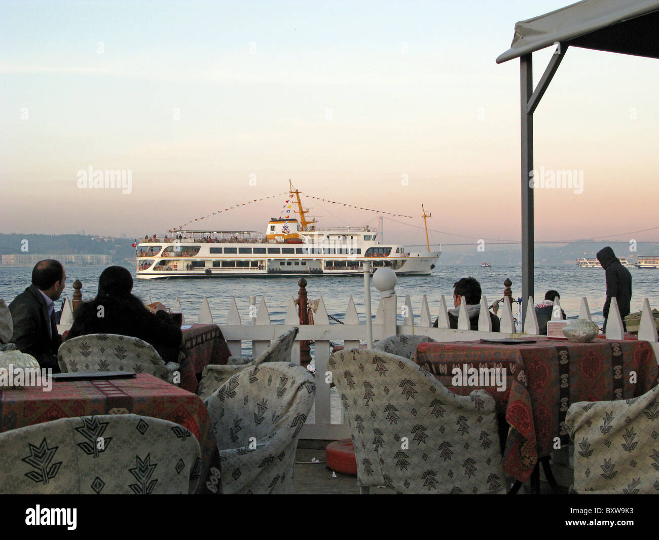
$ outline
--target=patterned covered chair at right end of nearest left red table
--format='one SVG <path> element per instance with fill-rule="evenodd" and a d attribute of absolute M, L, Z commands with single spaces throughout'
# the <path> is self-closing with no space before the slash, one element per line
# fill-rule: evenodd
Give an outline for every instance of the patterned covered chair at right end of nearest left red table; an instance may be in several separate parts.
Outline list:
<path fill-rule="evenodd" d="M 292 493 L 297 440 L 316 383 L 303 367 L 268 362 L 231 376 L 206 402 L 221 493 Z"/>

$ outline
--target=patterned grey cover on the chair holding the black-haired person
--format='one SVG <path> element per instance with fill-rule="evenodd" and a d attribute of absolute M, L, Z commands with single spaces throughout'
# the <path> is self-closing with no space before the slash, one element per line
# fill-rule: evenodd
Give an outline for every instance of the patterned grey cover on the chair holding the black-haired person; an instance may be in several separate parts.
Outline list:
<path fill-rule="evenodd" d="M 87 334 L 67 340 L 60 345 L 57 360 L 62 373 L 131 371 L 148 373 L 170 383 L 174 372 L 181 369 L 174 362 L 165 364 L 153 345 L 119 334 Z"/>

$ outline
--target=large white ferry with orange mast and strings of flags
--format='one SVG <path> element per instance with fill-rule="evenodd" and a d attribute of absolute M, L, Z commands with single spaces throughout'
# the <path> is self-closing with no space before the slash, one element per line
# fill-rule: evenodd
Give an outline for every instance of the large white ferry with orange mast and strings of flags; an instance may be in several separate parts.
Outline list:
<path fill-rule="evenodd" d="M 430 276 L 441 245 L 406 251 L 403 245 L 382 244 L 378 231 L 364 227 L 318 227 L 307 220 L 300 192 L 291 185 L 297 218 L 271 218 L 260 231 L 170 229 L 161 238 L 136 242 L 136 276 L 142 280 L 219 276 L 362 276 L 364 261 L 371 272 L 391 268 L 399 276 Z M 424 210 L 424 223 L 426 216 Z"/>

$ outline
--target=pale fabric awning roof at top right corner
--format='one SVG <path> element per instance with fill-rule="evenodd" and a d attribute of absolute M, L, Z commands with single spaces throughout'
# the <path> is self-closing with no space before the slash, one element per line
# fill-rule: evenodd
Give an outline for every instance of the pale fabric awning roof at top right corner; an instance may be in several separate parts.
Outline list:
<path fill-rule="evenodd" d="M 515 24 L 506 62 L 556 42 L 659 58 L 659 0 L 583 0 Z"/>

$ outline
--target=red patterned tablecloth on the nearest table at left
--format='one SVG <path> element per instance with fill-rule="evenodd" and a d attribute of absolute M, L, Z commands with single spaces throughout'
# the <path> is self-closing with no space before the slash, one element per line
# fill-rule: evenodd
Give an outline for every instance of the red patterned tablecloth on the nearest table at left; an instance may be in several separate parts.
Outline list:
<path fill-rule="evenodd" d="M 215 433 L 206 405 L 194 394 L 153 375 L 113 380 L 53 381 L 50 392 L 41 386 L 0 390 L 0 433 L 59 418 L 134 413 L 169 420 L 196 436 L 202 465 L 196 493 L 206 487 L 212 467 L 219 470 Z"/>

